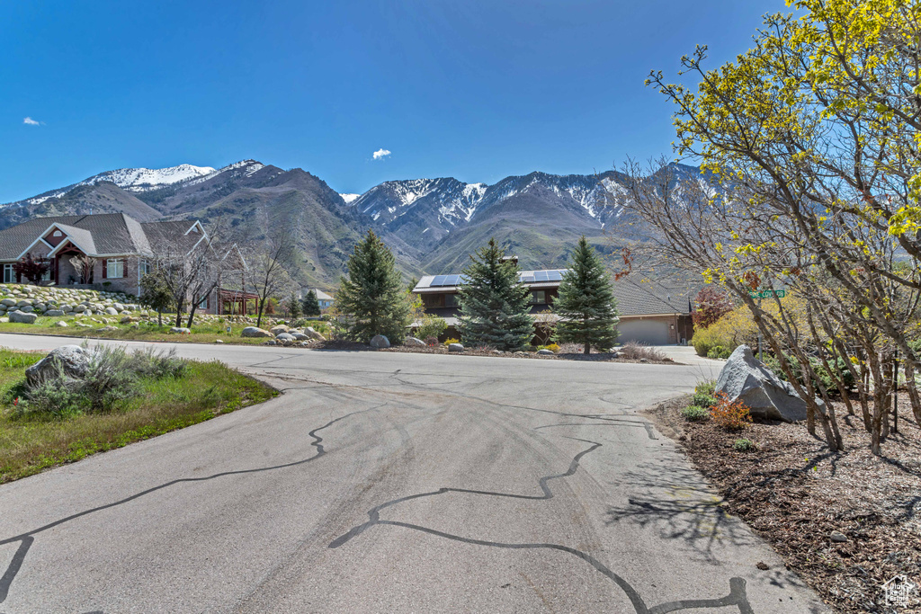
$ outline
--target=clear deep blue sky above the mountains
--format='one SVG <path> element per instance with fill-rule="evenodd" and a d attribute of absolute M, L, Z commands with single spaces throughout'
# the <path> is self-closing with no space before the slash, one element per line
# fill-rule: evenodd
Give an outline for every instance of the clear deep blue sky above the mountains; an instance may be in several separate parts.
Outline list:
<path fill-rule="evenodd" d="M 782 0 L 0 3 L 0 203 L 112 168 L 256 158 L 337 191 L 670 153 L 644 87 Z M 31 122 L 24 122 L 30 118 Z M 390 151 L 375 159 L 373 153 Z"/>

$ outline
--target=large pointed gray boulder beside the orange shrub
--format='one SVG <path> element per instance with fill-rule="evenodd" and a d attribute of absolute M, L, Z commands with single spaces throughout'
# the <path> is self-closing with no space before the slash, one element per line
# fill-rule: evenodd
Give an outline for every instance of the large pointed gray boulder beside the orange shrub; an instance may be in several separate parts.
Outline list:
<path fill-rule="evenodd" d="M 717 377 L 716 391 L 726 394 L 730 401 L 741 400 L 755 418 L 787 423 L 806 419 L 806 401 L 799 398 L 789 382 L 775 376 L 755 358 L 747 345 L 740 345 L 729 356 Z"/>

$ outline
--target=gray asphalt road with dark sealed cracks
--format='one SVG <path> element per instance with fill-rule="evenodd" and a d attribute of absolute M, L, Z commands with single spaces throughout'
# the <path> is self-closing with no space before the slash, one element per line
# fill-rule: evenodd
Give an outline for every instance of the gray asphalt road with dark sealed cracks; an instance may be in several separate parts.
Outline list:
<path fill-rule="evenodd" d="M 0 486 L 3 614 L 825 611 L 637 414 L 712 367 L 176 347 L 285 394 Z"/>

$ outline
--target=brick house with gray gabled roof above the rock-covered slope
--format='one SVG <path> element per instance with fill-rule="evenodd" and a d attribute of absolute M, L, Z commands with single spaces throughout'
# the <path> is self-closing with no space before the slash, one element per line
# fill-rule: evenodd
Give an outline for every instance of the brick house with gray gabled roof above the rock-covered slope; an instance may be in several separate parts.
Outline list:
<path fill-rule="evenodd" d="M 45 284 L 140 295 L 141 278 L 152 270 L 153 261 L 164 250 L 186 256 L 202 246 L 210 246 L 210 239 L 196 220 L 142 223 L 127 214 L 37 217 L 0 231 L 2 282 L 26 282 L 13 265 L 31 257 L 51 265 Z M 239 250 L 232 251 L 225 255 L 225 259 L 235 260 L 230 268 L 245 269 Z M 227 276 L 237 277 L 229 272 Z M 221 287 L 199 308 L 220 313 L 222 307 L 239 299 L 245 304 L 247 295 L 241 294 Z"/>

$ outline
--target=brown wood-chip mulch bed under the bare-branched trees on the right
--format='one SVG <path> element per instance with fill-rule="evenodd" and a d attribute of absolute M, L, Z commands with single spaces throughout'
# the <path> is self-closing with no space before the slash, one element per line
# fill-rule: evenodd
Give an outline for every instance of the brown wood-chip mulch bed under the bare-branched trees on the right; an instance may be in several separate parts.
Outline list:
<path fill-rule="evenodd" d="M 715 423 L 689 423 L 672 400 L 650 416 L 683 446 L 729 505 L 767 540 L 837 612 L 921 612 L 886 606 L 881 585 L 897 574 L 921 585 L 921 429 L 900 399 L 899 433 L 869 451 L 859 416 L 836 411 L 845 451 L 833 454 L 805 423 L 755 423 L 727 433 Z M 857 410 L 859 411 L 859 410 Z M 821 433 L 821 427 L 819 427 Z M 738 438 L 757 450 L 737 452 Z M 833 531 L 846 541 L 833 542 Z"/>

